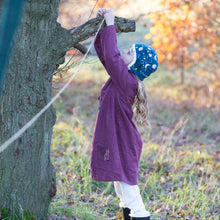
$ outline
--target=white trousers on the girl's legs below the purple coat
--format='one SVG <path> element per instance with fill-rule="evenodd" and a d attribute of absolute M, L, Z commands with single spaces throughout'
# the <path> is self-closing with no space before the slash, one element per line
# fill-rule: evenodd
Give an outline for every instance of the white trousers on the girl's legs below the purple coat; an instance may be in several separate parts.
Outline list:
<path fill-rule="evenodd" d="M 147 217 L 150 213 L 146 211 L 140 190 L 137 185 L 129 185 L 124 182 L 114 182 L 117 196 L 120 198 L 120 207 L 131 209 L 131 217 Z"/>

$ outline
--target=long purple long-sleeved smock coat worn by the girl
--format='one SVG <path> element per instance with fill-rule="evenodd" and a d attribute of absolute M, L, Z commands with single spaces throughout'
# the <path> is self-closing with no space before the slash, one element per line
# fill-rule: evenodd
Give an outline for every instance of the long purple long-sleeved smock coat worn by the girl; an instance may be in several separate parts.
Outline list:
<path fill-rule="evenodd" d="M 110 77 L 100 94 L 91 149 L 91 176 L 97 181 L 123 181 L 137 185 L 143 145 L 132 121 L 137 79 L 128 72 L 120 56 L 114 25 L 99 32 L 94 46 Z"/>

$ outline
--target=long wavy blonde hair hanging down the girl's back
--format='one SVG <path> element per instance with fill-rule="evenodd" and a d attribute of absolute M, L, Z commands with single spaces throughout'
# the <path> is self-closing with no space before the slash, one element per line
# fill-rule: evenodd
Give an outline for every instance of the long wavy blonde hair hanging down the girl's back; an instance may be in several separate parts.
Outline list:
<path fill-rule="evenodd" d="M 144 83 L 137 78 L 138 81 L 138 89 L 137 95 L 134 98 L 133 103 L 133 120 L 135 124 L 140 127 L 144 128 L 146 126 L 150 126 L 148 122 L 148 101 L 147 101 L 147 92 L 145 90 Z"/>

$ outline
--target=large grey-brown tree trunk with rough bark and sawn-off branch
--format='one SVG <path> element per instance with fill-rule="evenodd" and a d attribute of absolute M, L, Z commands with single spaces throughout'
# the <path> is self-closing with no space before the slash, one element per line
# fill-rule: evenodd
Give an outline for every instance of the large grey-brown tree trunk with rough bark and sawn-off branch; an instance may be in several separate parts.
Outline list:
<path fill-rule="evenodd" d="M 95 18 L 74 31 L 65 30 L 56 23 L 58 6 L 59 0 L 28 0 L 25 5 L 0 97 L 1 143 L 50 101 L 59 59 L 70 47 L 94 35 L 100 23 Z M 134 31 L 135 22 L 119 18 L 116 27 L 117 31 Z M 46 219 L 56 193 L 55 170 L 50 161 L 55 121 L 51 107 L 0 153 L 0 209 L 19 216 L 21 210 L 28 211 L 38 220 Z"/>

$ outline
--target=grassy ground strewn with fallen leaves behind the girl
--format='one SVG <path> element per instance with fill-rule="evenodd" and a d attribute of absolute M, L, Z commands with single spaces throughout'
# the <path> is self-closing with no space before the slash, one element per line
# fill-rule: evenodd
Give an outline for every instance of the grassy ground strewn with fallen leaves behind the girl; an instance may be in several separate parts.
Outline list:
<path fill-rule="evenodd" d="M 73 72 L 55 78 L 54 94 Z M 57 194 L 48 220 L 122 219 L 112 183 L 90 177 L 97 98 L 107 78 L 98 59 L 88 59 L 54 105 Z M 180 85 L 163 66 L 145 84 L 152 126 L 142 132 L 138 185 L 151 219 L 219 219 L 220 92 L 210 93 L 193 73 Z"/>

